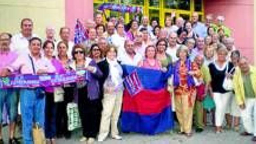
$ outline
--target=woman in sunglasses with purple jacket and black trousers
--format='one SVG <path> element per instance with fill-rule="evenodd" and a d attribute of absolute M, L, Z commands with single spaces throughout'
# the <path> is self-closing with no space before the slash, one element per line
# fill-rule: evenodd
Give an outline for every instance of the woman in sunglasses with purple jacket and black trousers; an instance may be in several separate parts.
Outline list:
<path fill-rule="evenodd" d="M 85 54 L 86 51 L 82 45 L 75 45 L 72 50 L 74 62 L 70 67 L 85 78 L 76 84 L 78 109 L 83 129 L 83 137 L 80 141 L 94 143 L 99 131 L 102 110 L 98 83 L 98 79 L 102 77 L 102 72 L 96 62 L 86 57 Z"/>

